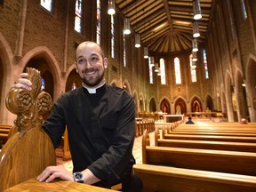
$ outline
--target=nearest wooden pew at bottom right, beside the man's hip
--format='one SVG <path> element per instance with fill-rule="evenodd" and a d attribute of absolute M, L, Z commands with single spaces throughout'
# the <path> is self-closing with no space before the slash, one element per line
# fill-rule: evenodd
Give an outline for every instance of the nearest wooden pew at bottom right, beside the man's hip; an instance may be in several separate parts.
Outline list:
<path fill-rule="evenodd" d="M 152 164 L 134 164 L 133 170 L 143 182 L 143 192 L 256 191 L 256 177 L 254 176 Z"/>

